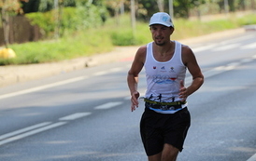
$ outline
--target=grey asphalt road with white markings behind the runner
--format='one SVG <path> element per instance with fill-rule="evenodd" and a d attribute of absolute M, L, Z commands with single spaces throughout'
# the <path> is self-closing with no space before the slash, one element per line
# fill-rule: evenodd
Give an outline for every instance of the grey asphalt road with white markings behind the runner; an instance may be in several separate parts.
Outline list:
<path fill-rule="evenodd" d="M 255 40 L 251 32 L 192 46 L 206 81 L 188 100 L 192 126 L 178 161 L 256 160 Z M 130 112 L 130 65 L 128 59 L 2 87 L 0 160 L 147 160 L 138 132 L 143 102 Z"/>

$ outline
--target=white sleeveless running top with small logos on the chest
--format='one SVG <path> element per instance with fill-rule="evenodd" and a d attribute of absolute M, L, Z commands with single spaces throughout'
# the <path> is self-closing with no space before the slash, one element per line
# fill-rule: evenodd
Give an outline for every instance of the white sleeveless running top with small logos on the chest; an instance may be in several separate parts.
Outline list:
<path fill-rule="evenodd" d="M 181 101 L 178 96 L 180 81 L 184 81 L 187 69 L 181 59 L 181 44 L 175 41 L 173 57 L 171 60 L 164 62 L 154 59 L 152 44 L 151 42 L 147 45 L 147 55 L 144 64 L 148 85 L 145 98 L 160 102 Z M 185 107 L 187 104 L 182 106 Z M 176 112 L 174 110 L 155 111 L 164 114 L 174 114 Z"/>

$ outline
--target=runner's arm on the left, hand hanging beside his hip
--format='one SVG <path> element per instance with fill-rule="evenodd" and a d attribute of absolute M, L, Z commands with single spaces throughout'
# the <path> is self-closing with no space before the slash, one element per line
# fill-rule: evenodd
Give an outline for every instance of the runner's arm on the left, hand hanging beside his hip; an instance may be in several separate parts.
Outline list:
<path fill-rule="evenodd" d="M 140 47 L 136 54 L 135 60 L 132 63 L 131 69 L 127 75 L 127 83 L 131 93 L 131 110 L 132 112 L 135 111 L 135 108 L 138 107 L 138 97 L 139 92 L 137 91 L 137 84 L 138 84 L 138 74 L 143 68 L 145 58 L 146 58 L 146 50 L 147 47 Z"/>

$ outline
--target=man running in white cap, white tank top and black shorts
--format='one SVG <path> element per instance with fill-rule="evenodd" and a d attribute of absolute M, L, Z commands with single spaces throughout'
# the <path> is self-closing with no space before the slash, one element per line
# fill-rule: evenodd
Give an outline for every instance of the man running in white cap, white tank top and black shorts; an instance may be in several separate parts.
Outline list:
<path fill-rule="evenodd" d="M 204 75 L 192 49 L 170 40 L 174 25 L 167 13 L 155 13 L 149 30 L 153 42 L 138 48 L 127 76 L 131 110 L 138 107 L 138 75 L 144 67 L 147 91 L 140 122 L 141 139 L 149 161 L 175 161 L 191 124 L 186 100 L 202 86 Z M 187 69 L 192 74 L 192 84 L 184 87 Z"/>

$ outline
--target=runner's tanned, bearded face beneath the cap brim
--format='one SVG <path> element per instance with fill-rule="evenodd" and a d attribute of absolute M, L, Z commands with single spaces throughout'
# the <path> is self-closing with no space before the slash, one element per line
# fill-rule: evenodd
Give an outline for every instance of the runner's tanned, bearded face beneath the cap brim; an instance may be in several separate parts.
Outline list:
<path fill-rule="evenodd" d="M 150 26 L 150 32 L 156 45 L 164 46 L 170 41 L 170 35 L 173 34 L 174 28 L 166 27 L 161 24 L 153 24 Z"/>

